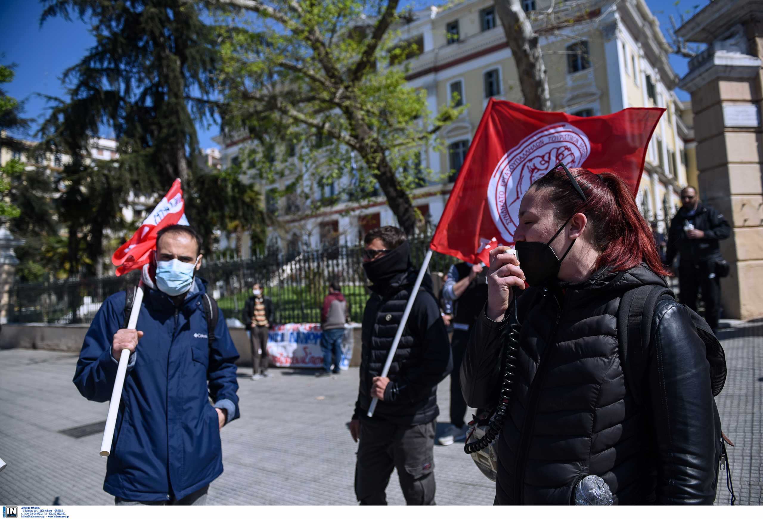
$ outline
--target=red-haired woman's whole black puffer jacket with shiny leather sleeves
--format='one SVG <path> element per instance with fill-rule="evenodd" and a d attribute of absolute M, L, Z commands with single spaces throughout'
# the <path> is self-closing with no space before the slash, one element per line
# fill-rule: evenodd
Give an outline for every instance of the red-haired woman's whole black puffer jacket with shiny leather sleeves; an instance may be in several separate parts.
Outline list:
<path fill-rule="evenodd" d="M 617 309 L 639 285 L 665 282 L 646 266 L 602 269 L 517 299 L 520 347 L 497 440 L 496 504 L 571 504 L 589 474 L 607 482 L 615 504 L 713 504 L 720 422 L 705 345 L 683 305 L 658 301 L 642 406 L 626 384 Z M 483 311 L 472 328 L 460 373 L 472 407 L 497 403 L 508 321 Z"/>

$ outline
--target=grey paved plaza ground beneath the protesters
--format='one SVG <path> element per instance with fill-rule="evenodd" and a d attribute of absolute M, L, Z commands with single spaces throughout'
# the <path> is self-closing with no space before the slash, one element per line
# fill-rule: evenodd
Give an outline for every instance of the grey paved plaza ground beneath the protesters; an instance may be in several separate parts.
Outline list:
<path fill-rule="evenodd" d="M 738 504 L 761 504 L 763 322 L 719 334 L 729 376 L 716 398 L 729 448 Z M 108 404 L 86 401 L 72 384 L 77 356 L 39 350 L 0 351 L 2 504 L 112 504 L 102 490 L 102 429 L 75 438 L 60 431 L 104 421 Z M 273 369 L 253 382 L 240 369 L 240 420 L 222 430 L 225 472 L 209 504 L 356 504 L 356 443 L 347 429 L 358 369 L 331 379 L 310 370 Z M 439 387 L 439 430 L 448 421 L 448 381 Z M 87 431 L 84 431 L 85 434 Z M 460 445 L 435 447 L 438 504 L 492 504 L 494 485 Z M 716 504 L 728 504 L 722 475 Z M 390 504 L 404 504 L 397 474 Z"/>

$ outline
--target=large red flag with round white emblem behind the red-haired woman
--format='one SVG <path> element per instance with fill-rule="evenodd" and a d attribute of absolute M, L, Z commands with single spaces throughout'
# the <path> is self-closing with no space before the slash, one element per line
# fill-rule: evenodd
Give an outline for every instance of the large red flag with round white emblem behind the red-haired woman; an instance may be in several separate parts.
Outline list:
<path fill-rule="evenodd" d="M 430 248 L 478 263 L 493 239 L 513 243 L 524 192 L 560 162 L 594 173 L 613 172 L 635 196 L 646 148 L 663 111 L 626 108 L 576 117 L 491 99 Z"/>

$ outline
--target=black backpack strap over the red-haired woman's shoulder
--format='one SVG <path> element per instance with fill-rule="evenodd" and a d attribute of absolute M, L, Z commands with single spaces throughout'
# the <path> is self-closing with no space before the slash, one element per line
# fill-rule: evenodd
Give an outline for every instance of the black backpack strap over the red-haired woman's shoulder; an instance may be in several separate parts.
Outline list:
<path fill-rule="evenodd" d="M 652 343 L 652 320 L 657 301 L 662 298 L 675 300 L 671 289 L 660 285 L 642 285 L 623 294 L 617 310 L 620 363 L 626 384 L 639 405 L 643 405 L 641 395 Z"/>

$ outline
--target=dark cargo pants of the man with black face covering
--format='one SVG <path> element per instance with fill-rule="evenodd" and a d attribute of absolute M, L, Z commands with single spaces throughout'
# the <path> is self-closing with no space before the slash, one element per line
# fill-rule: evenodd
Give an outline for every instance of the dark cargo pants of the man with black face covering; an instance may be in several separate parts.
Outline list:
<path fill-rule="evenodd" d="M 435 504 L 435 430 L 436 421 L 398 425 L 364 417 L 355 466 L 355 495 L 360 504 L 387 504 L 385 490 L 394 468 L 407 504 Z"/>

